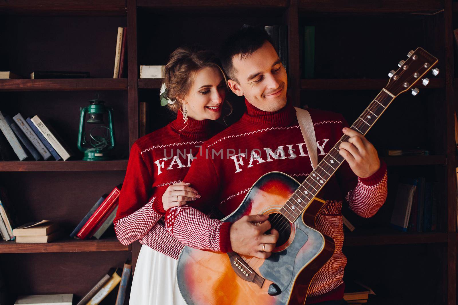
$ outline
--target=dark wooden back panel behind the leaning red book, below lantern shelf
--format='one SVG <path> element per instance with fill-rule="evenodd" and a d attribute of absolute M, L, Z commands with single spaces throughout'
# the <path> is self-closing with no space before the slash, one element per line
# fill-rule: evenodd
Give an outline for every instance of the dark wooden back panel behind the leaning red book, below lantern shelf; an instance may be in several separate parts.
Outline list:
<path fill-rule="evenodd" d="M 124 181 L 124 176 L 123 171 L 1 172 L 0 183 L 18 215 L 18 225 L 48 219 L 59 223 L 68 236 L 104 193 Z M 105 235 L 114 236 L 114 230 Z"/>

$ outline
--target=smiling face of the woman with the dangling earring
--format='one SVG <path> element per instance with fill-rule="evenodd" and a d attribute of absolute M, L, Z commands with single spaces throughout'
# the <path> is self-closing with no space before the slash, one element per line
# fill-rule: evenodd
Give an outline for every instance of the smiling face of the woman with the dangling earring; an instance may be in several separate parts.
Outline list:
<path fill-rule="evenodd" d="M 183 99 L 188 116 L 198 121 L 216 120 L 226 97 L 226 84 L 221 71 L 205 67 L 194 74 L 191 89 Z"/>

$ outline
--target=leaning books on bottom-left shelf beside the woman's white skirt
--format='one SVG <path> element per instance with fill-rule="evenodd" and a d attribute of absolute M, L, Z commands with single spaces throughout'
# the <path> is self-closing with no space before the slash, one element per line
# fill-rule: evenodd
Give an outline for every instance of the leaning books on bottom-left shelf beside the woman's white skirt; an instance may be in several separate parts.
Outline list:
<path fill-rule="evenodd" d="M 127 284 L 131 276 L 132 264 L 130 261 L 124 264 L 121 277 L 116 273 L 117 269 L 111 268 L 104 277 L 91 289 L 77 305 L 97 305 L 120 283 L 115 305 L 123 305 Z"/>

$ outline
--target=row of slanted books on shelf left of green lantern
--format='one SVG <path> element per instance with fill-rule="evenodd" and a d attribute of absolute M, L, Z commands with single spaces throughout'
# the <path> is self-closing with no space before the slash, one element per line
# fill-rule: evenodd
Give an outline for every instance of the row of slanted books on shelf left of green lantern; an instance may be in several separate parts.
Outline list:
<path fill-rule="evenodd" d="M 21 113 L 13 118 L 0 112 L 0 157 L 4 161 L 69 159 L 73 154 L 49 124 L 38 115 L 24 119 Z M 17 158 L 16 158 L 17 157 Z"/>

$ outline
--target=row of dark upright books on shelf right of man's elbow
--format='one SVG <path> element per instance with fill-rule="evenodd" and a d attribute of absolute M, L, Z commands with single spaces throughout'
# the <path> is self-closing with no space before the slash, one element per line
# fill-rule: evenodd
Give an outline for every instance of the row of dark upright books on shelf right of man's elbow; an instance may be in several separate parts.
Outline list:
<path fill-rule="evenodd" d="M 398 185 L 391 225 L 403 232 L 437 230 L 438 182 L 425 177 L 406 179 Z"/>

